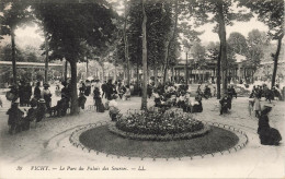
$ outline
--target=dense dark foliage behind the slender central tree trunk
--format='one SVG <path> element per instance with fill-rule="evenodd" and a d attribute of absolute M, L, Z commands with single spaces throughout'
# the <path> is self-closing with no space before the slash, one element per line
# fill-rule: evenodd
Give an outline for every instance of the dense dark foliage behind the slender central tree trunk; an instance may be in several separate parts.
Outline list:
<path fill-rule="evenodd" d="M 145 2 L 147 21 L 147 60 L 148 70 L 155 71 L 157 76 L 158 69 L 166 63 L 166 56 L 168 55 L 168 61 L 174 61 L 176 57 L 176 36 L 174 40 L 170 41 L 173 26 L 173 3 L 171 1 L 146 1 Z M 141 22 L 142 11 L 141 1 L 129 1 L 129 27 L 128 27 L 128 45 L 129 45 L 129 60 L 133 64 L 141 65 Z M 168 50 L 168 52 L 167 52 Z M 157 79 L 157 77 L 155 77 Z"/>

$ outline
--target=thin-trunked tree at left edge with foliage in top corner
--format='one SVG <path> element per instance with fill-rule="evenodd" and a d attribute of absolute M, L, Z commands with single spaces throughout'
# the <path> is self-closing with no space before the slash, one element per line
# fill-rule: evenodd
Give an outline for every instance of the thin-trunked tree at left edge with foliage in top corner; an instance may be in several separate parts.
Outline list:
<path fill-rule="evenodd" d="M 16 85 L 15 29 L 32 20 L 29 3 L 21 0 L 2 0 L 0 2 L 0 36 L 11 36 L 13 83 Z"/>

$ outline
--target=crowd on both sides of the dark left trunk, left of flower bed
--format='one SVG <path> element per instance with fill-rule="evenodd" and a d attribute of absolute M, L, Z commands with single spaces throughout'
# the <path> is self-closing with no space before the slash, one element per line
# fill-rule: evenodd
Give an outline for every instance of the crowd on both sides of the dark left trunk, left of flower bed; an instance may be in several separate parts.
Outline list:
<path fill-rule="evenodd" d="M 60 86 L 62 87 L 60 88 Z M 31 83 L 26 81 L 21 81 L 19 85 L 10 86 L 5 97 L 11 102 L 11 108 L 7 111 L 7 115 L 9 115 L 9 132 L 11 134 L 30 129 L 31 122 L 42 121 L 46 114 L 49 114 L 50 117 L 64 117 L 67 115 L 71 106 L 71 85 L 65 81 L 61 82 L 61 85 L 56 84 L 55 94 L 60 96 L 60 99 L 55 106 L 52 106 L 53 94 L 49 87 L 49 84 L 44 83 L 42 88 L 41 82 L 37 82 L 34 90 L 32 90 Z M 95 110 L 104 112 L 106 109 L 110 109 L 110 116 L 113 119 L 115 118 L 114 114 L 118 114 L 115 99 L 117 97 L 125 100 L 130 99 L 129 86 L 124 85 L 121 81 L 112 83 L 112 80 L 109 80 L 103 84 L 99 80 L 80 82 L 78 91 L 79 110 L 86 108 L 87 97 L 93 96 Z M 103 105 L 102 98 L 106 99 L 105 105 Z M 26 111 L 27 108 L 29 110 Z"/>

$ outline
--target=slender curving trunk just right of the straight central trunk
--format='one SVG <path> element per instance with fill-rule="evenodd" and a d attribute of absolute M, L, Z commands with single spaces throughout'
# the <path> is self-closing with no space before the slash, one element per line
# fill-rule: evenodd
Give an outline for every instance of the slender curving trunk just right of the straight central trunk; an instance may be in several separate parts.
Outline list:
<path fill-rule="evenodd" d="M 170 53 L 170 47 L 172 43 L 174 41 L 175 34 L 176 34 L 176 27 L 178 27 L 178 0 L 175 0 L 175 22 L 174 22 L 174 27 L 173 32 L 171 35 L 170 40 L 167 43 L 167 50 L 166 50 L 166 57 L 164 57 L 164 68 L 163 68 L 163 84 L 166 84 L 167 81 L 167 73 L 168 73 L 168 68 L 169 68 L 169 53 Z"/>

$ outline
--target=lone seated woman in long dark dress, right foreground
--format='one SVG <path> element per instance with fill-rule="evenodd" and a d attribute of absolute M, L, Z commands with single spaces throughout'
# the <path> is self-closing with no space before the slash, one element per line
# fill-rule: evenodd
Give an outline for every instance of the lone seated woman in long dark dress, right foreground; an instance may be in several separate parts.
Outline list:
<path fill-rule="evenodd" d="M 270 127 L 269 122 L 269 112 L 272 110 L 272 107 L 264 106 L 259 117 L 259 128 L 258 134 L 260 136 L 260 143 L 262 145 L 278 145 L 282 136 L 280 132 Z"/>

